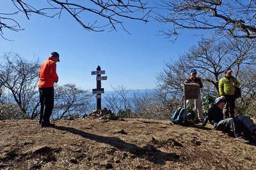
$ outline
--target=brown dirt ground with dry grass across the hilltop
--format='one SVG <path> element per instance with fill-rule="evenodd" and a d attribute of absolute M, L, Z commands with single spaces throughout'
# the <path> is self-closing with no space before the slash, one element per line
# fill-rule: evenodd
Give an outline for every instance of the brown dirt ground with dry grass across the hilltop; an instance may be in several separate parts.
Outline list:
<path fill-rule="evenodd" d="M 123 119 L 0 121 L 0 169 L 256 169 L 256 145 L 211 125 Z"/>

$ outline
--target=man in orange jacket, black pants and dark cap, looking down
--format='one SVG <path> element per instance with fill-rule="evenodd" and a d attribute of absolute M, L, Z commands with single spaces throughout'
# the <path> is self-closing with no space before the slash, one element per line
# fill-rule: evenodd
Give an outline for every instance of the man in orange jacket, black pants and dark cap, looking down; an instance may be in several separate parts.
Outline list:
<path fill-rule="evenodd" d="M 59 53 L 52 52 L 51 56 L 41 64 L 38 73 L 38 90 L 41 104 L 39 124 L 41 127 L 54 126 L 50 123 L 50 117 L 54 106 L 54 83 L 59 80 L 56 73 L 56 62 L 60 62 L 59 57 Z"/>

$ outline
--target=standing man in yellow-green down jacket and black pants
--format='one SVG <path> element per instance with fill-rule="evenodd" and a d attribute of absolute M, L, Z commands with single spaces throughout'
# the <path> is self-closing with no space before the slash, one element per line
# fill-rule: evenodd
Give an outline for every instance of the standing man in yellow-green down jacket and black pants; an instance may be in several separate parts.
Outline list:
<path fill-rule="evenodd" d="M 221 78 L 219 82 L 220 96 L 226 100 L 223 113 L 226 118 L 235 116 L 235 87 L 239 87 L 240 83 L 232 76 L 232 70 L 230 68 L 225 70 L 225 76 Z"/>

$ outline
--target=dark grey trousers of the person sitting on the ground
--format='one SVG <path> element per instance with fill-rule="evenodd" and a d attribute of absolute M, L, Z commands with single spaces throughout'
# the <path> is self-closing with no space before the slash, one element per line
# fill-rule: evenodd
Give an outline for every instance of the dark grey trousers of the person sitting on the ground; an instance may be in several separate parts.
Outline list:
<path fill-rule="evenodd" d="M 225 118 L 214 125 L 214 129 L 217 131 L 232 131 L 235 137 L 242 136 L 241 122 L 235 118 Z"/>

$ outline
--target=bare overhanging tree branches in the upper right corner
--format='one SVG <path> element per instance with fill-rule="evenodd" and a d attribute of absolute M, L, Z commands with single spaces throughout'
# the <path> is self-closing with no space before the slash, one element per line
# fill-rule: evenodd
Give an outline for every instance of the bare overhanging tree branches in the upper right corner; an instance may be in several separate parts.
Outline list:
<path fill-rule="evenodd" d="M 256 1 L 253 0 L 163 0 L 157 20 L 170 24 L 164 31 L 177 38 L 184 29 L 214 31 L 234 38 L 256 38 Z M 161 11 L 164 11 L 161 9 Z"/>

